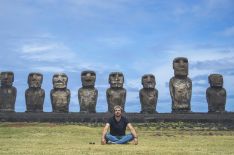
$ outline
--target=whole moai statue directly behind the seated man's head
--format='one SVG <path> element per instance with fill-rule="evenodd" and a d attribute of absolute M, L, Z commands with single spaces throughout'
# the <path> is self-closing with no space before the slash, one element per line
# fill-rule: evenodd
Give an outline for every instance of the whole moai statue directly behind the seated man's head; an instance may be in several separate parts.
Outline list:
<path fill-rule="evenodd" d="M 120 105 L 125 107 L 126 89 L 123 88 L 124 75 L 121 72 L 112 72 L 109 75 L 110 88 L 106 91 L 106 99 L 108 103 L 108 111 L 113 113 L 114 106 Z"/>

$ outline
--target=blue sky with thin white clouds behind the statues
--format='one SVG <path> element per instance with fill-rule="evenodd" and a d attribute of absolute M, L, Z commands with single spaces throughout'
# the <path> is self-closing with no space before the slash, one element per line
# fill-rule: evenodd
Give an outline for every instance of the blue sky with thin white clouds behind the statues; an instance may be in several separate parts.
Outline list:
<path fill-rule="evenodd" d="M 52 76 L 65 72 L 70 111 L 79 111 L 80 73 L 97 73 L 97 111 L 107 111 L 108 75 L 121 71 L 126 111 L 139 112 L 141 76 L 152 73 L 158 112 L 171 111 L 172 61 L 189 59 L 192 111 L 206 112 L 208 75 L 224 76 L 227 111 L 234 111 L 233 0 L 1 0 L 0 71 L 15 73 L 16 111 L 25 111 L 30 72 L 44 75 L 44 111 L 51 111 Z"/>

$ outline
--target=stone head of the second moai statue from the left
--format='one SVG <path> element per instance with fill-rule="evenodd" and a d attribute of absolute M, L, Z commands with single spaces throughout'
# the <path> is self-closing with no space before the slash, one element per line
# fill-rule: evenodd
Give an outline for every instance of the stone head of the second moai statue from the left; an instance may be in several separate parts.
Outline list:
<path fill-rule="evenodd" d="M 28 75 L 28 86 L 30 88 L 41 88 L 43 75 L 41 73 L 30 73 Z"/>

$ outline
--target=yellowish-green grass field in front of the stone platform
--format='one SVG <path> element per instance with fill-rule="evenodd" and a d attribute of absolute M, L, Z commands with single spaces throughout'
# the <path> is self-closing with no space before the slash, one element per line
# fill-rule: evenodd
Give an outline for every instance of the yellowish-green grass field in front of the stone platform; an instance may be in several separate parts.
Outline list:
<path fill-rule="evenodd" d="M 234 154 L 233 129 L 181 122 L 133 125 L 138 145 L 101 145 L 103 124 L 0 123 L 0 155 Z"/>

